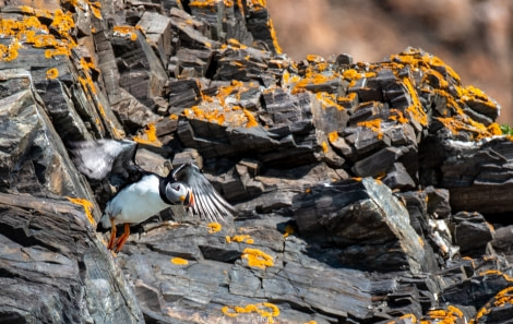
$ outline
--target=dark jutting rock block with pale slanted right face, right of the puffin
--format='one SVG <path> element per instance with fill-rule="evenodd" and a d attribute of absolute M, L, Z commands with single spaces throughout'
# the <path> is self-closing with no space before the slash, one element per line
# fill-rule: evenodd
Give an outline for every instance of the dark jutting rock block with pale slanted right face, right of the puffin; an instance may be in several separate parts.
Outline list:
<path fill-rule="evenodd" d="M 344 248 L 342 262 L 377 269 L 408 266 L 414 273 L 436 267 L 407 209 L 372 179 L 314 188 L 295 197 L 293 211 L 301 233 L 331 233 L 330 240 Z"/>

